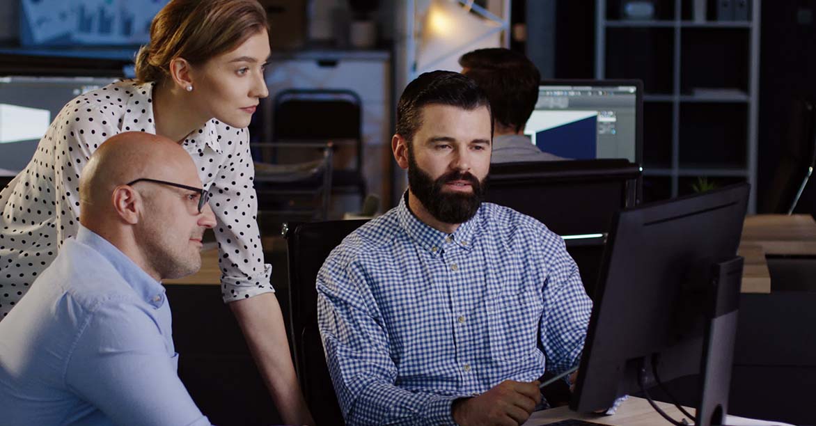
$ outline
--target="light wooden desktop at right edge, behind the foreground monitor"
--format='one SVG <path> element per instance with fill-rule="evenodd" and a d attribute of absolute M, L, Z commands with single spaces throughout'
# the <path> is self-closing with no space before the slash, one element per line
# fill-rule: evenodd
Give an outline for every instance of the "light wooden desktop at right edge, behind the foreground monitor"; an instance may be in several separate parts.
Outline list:
<path fill-rule="evenodd" d="M 738 255 L 745 258 L 743 293 L 770 293 L 766 255 L 816 255 L 816 222 L 810 215 L 745 218 Z"/>

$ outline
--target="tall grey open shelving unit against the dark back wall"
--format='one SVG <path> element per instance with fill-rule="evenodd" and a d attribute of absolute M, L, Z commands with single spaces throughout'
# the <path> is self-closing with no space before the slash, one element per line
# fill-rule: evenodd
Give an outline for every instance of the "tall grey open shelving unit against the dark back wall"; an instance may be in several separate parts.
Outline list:
<path fill-rule="evenodd" d="M 596 0 L 596 78 L 644 83 L 644 199 L 692 193 L 698 178 L 752 185 L 756 212 L 761 0 L 749 20 L 693 19 L 688 0 L 655 1 L 652 20 L 622 20 Z"/>

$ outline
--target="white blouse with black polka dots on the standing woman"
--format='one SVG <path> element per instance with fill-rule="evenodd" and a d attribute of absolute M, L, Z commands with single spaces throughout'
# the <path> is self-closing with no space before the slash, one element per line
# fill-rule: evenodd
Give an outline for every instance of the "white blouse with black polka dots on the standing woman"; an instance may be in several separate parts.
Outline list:
<path fill-rule="evenodd" d="M 79 172 L 91 153 L 122 131 L 156 133 L 152 94 L 153 83 L 126 80 L 71 100 L 29 165 L 0 192 L 0 319 L 77 233 Z M 256 221 L 249 132 L 213 119 L 183 147 L 212 194 L 224 301 L 274 291 Z"/>

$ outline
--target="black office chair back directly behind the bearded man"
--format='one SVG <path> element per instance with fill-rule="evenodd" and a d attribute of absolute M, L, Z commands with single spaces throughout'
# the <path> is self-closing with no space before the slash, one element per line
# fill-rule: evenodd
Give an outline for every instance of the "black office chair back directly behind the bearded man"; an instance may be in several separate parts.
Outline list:
<path fill-rule="evenodd" d="M 289 251 L 289 305 L 295 369 L 317 424 L 343 424 L 317 328 L 317 272 L 329 253 L 368 220 L 293 224 L 285 231 Z"/>

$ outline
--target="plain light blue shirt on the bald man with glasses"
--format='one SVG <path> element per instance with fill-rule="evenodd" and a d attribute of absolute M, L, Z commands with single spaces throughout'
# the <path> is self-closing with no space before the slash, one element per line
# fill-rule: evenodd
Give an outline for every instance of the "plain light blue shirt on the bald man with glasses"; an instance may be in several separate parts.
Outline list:
<path fill-rule="evenodd" d="M 162 284 L 80 227 L 0 322 L 0 423 L 210 424 L 177 366 Z"/>

